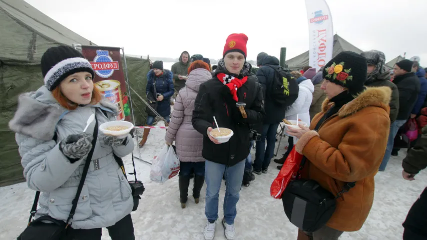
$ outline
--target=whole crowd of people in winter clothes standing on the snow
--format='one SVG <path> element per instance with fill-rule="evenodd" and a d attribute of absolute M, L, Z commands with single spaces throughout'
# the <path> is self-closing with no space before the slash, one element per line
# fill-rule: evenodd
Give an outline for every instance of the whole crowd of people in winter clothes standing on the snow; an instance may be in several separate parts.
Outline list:
<path fill-rule="evenodd" d="M 181 207 L 186 207 L 190 180 L 196 203 L 206 182 L 203 234 L 214 239 L 225 179 L 221 224 L 226 238 L 234 239 L 242 185 L 250 186 L 254 173 L 263 177 L 268 172 L 283 119 L 299 120 L 298 128 L 284 132 L 287 151 L 274 161 L 280 169 L 291 151 L 302 154 L 301 178 L 336 195 L 336 208 L 318 229 L 296 224 L 297 239 L 332 240 L 359 230 L 372 206 L 374 176 L 385 170 L 394 138 L 408 119 L 417 119 L 420 130 L 403 160 L 402 176 L 414 180 L 427 166 L 425 69 L 404 59 L 390 70 L 378 50 L 343 51 L 318 70 L 306 66 L 301 71 L 287 71 L 275 56 L 261 52 L 254 69 L 246 61 L 247 41 L 243 33 L 229 35 L 216 66 L 201 54 L 183 51 L 171 70 L 155 61 L 147 74 L 146 96 L 155 111 L 147 108 L 146 125 L 153 125 L 156 116 L 166 121 L 166 144 L 174 145 L 180 160 Z M 94 87 L 94 70 L 79 51 L 52 47 L 41 65 L 45 84 L 20 97 L 10 122 L 28 186 L 41 192 L 36 218 L 70 223 L 67 234 L 76 240 L 101 239 L 102 227 L 113 240 L 135 239 L 130 214 L 135 197 L 118 160 L 134 149 L 133 134 L 96 134 L 98 124 L 114 120 L 117 109 Z M 245 103 L 246 114 L 236 103 Z M 96 120 L 87 132 L 94 134 L 83 130 L 91 114 Z M 233 131 L 229 141 L 221 143 L 210 134 L 217 124 Z M 149 132 L 144 129 L 139 147 Z M 319 189 L 308 190 L 316 194 Z M 427 237 L 425 204 L 427 190 L 403 223 L 404 239 Z M 298 213 L 303 221 L 304 212 Z"/>

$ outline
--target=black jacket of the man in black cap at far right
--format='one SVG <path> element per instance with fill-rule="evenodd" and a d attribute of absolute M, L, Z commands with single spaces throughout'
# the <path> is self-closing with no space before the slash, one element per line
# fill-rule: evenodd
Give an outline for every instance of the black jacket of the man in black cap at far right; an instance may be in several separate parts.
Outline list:
<path fill-rule="evenodd" d="M 407 120 L 418 99 L 421 84 L 413 72 L 395 76 L 393 83 L 396 84 L 399 90 L 399 113 L 396 119 Z"/>

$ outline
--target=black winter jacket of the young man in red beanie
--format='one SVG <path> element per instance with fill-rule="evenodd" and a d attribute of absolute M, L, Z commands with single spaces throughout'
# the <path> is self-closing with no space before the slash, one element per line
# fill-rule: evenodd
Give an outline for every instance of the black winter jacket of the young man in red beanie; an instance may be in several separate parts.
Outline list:
<path fill-rule="evenodd" d="M 193 127 L 203 134 L 202 156 L 209 161 L 233 166 L 249 155 L 249 125 L 262 122 L 265 116 L 264 99 L 256 76 L 247 73 L 247 81 L 237 90 L 239 102 L 246 103 L 248 117 L 243 118 L 230 89 L 216 77 L 220 72 L 233 75 L 226 70 L 217 69 L 214 78 L 200 85 L 194 103 L 192 123 Z M 243 75 L 237 77 L 241 79 Z M 209 139 L 206 130 L 208 127 L 216 127 L 214 116 L 220 127 L 233 130 L 234 135 L 228 142 L 215 144 Z"/>

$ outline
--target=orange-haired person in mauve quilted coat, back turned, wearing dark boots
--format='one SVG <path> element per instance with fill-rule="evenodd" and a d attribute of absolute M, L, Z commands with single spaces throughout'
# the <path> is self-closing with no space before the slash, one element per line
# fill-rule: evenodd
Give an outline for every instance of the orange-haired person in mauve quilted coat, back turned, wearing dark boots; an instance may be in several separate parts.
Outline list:
<path fill-rule="evenodd" d="M 190 176 L 194 177 L 193 197 L 199 203 L 200 190 L 205 181 L 205 159 L 202 156 L 203 135 L 193 128 L 194 101 L 199 86 L 212 78 L 209 65 L 202 60 L 196 60 L 188 68 L 188 79 L 176 98 L 172 118 L 166 132 L 166 143 L 175 140 L 176 153 L 180 160 L 179 192 L 181 207 L 185 207 L 188 198 Z"/>

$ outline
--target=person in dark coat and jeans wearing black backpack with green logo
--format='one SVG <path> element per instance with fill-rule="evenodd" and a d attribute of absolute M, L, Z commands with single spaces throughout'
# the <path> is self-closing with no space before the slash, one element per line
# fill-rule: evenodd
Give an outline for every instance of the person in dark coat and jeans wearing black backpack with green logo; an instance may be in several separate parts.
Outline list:
<path fill-rule="evenodd" d="M 273 157 L 274 147 L 276 145 L 276 133 L 279 123 L 285 117 L 285 107 L 278 105 L 273 101 L 269 94 L 271 84 L 275 78 L 276 70 L 279 67 L 279 59 L 275 56 L 265 56 L 261 67 L 256 72 L 259 83 L 261 83 L 265 99 L 265 114 L 262 124 L 261 139 L 256 143 L 256 154 L 253 172 L 261 174 L 261 171 L 267 173 L 267 168 Z M 265 140 L 267 139 L 267 147 Z"/>

